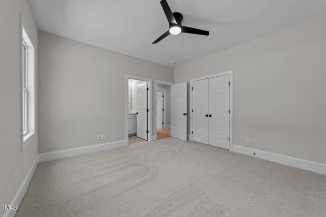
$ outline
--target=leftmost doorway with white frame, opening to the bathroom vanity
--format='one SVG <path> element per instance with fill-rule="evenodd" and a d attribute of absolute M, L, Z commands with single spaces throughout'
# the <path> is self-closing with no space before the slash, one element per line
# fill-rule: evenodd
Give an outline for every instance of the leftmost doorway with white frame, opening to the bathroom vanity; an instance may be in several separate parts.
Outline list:
<path fill-rule="evenodd" d="M 126 75 L 125 78 L 125 141 L 126 146 L 151 141 L 152 79 Z"/>

